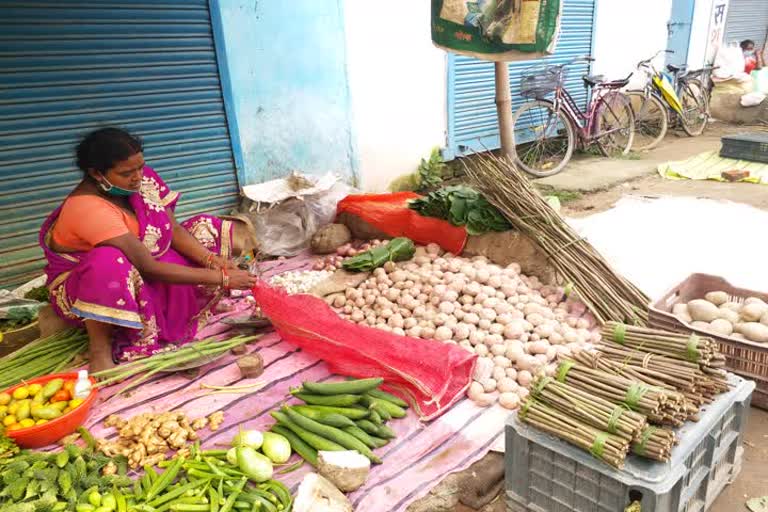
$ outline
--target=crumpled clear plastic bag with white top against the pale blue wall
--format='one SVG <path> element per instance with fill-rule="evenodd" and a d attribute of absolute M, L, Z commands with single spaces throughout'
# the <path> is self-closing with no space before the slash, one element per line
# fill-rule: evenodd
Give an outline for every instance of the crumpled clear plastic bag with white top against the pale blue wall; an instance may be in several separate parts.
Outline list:
<path fill-rule="evenodd" d="M 303 183 L 297 187 L 295 183 Z M 244 213 L 253 223 L 259 247 L 273 256 L 295 256 L 309 247 L 320 226 L 333 222 L 336 205 L 354 189 L 327 174 L 294 174 L 243 187 Z"/>

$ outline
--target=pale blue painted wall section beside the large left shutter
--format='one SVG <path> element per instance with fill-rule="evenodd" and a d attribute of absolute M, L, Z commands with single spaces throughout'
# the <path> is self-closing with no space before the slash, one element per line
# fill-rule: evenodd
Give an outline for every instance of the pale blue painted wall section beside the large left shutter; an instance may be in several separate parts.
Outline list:
<path fill-rule="evenodd" d="M 220 9 L 224 29 L 241 185 L 293 170 L 352 179 L 342 0 L 218 0 L 212 6 Z"/>

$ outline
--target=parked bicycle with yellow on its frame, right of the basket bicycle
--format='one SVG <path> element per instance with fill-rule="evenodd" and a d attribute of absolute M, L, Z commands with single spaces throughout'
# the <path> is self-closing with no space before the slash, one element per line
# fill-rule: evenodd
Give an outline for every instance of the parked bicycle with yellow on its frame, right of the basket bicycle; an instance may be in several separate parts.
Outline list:
<path fill-rule="evenodd" d="M 709 94 L 707 86 L 699 77 L 708 81 L 711 66 L 687 72 L 683 66 L 668 65 L 670 79 L 657 70 L 653 60 L 660 53 L 674 53 L 660 50 L 650 59 L 637 63 L 638 71 L 647 77 L 645 87 L 640 91 L 628 91 L 632 110 L 635 114 L 634 151 L 656 147 L 664 138 L 672 119 L 678 121 L 690 137 L 701 135 L 709 117 Z"/>

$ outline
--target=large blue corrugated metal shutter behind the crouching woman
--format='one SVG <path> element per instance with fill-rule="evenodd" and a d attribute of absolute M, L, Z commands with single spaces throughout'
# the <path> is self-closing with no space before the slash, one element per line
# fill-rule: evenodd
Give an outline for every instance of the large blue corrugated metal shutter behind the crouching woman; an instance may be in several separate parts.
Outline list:
<path fill-rule="evenodd" d="M 2 2 L 0 287 L 40 273 L 40 225 L 82 177 L 74 145 L 106 125 L 143 137 L 180 218 L 235 206 L 208 0 Z"/>

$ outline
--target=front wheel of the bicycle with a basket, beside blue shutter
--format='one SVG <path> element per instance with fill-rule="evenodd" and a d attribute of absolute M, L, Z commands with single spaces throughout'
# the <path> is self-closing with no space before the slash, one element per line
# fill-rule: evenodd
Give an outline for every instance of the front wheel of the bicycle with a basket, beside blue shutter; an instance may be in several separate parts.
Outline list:
<path fill-rule="evenodd" d="M 526 103 L 512 117 L 515 161 L 540 178 L 562 171 L 573 155 L 576 135 L 565 115 L 550 101 Z"/>

